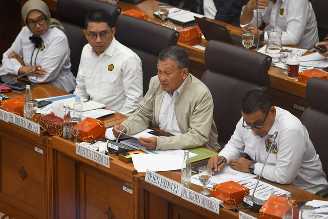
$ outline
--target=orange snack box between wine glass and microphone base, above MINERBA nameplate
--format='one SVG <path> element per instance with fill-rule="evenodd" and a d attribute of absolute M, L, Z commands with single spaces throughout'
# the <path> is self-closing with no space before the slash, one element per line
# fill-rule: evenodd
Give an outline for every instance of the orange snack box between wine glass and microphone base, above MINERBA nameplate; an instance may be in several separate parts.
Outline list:
<path fill-rule="evenodd" d="M 213 186 L 213 197 L 229 204 L 241 203 L 244 195 L 249 195 L 250 189 L 234 181 L 220 183 Z"/>

